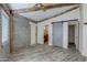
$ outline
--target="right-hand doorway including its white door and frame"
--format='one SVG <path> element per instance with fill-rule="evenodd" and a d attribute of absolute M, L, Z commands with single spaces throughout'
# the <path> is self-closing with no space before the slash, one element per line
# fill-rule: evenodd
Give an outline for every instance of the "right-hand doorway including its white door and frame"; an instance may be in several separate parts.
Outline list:
<path fill-rule="evenodd" d="M 68 22 L 68 47 L 79 50 L 79 23 L 78 21 Z"/>

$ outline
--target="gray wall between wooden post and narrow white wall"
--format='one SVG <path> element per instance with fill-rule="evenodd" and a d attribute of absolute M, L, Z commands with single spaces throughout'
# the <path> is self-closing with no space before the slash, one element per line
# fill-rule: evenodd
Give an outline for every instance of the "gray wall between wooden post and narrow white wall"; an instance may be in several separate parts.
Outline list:
<path fill-rule="evenodd" d="M 13 48 L 14 51 L 18 51 L 31 44 L 31 26 L 29 24 L 29 20 L 21 15 L 15 15 L 13 20 L 14 20 Z"/>

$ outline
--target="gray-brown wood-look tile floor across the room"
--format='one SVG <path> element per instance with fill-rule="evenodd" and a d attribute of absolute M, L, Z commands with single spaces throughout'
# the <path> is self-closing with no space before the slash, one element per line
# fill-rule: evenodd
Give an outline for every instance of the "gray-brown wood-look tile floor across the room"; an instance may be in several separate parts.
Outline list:
<path fill-rule="evenodd" d="M 57 46 L 33 45 L 10 55 L 11 62 L 86 62 L 74 47 L 65 50 Z"/>

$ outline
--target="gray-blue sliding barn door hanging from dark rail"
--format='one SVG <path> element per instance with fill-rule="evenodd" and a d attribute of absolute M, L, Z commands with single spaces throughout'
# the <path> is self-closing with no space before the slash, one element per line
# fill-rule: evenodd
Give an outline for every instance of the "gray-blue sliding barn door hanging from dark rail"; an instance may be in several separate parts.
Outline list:
<path fill-rule="evenodd" d="M 53 45 L 63 46 L 63 23 L 53 23 Z"/>

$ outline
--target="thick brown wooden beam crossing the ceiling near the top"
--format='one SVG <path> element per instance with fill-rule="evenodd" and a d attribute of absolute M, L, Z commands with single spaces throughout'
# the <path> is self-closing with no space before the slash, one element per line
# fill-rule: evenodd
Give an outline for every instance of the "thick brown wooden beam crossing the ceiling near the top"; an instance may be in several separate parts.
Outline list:
<path fill-rule="evenodd" d="M 62 7 L 68 7 L 68 6 L 75 6 L 77 3 L 44 3 L 43 6 L 46 9 L 53 9 L 53 8 L 62 8 Z M 26 12 L 33 12 L 33 11 L 39 11 L 42 10 L 40 7 L 32 7 L 32 8 L 25 8 L 25 9 L 18 9 L 13 10 L 13 13 L 26 13 Z"/>

